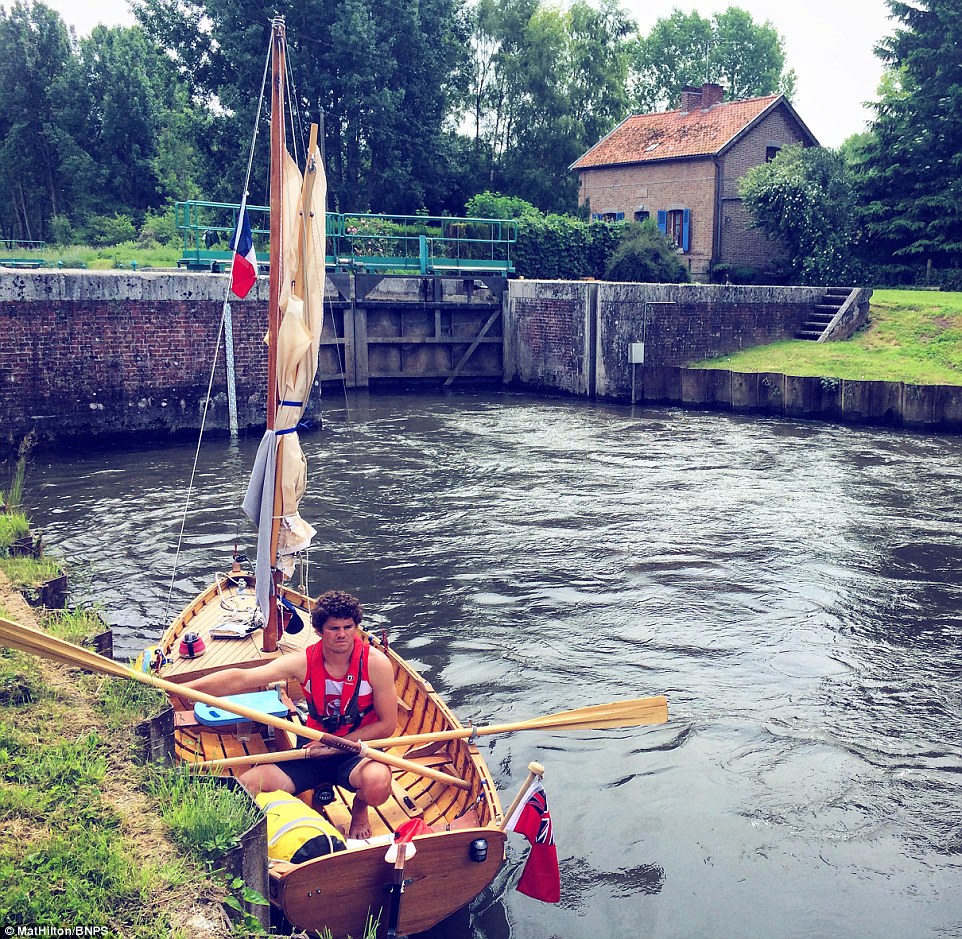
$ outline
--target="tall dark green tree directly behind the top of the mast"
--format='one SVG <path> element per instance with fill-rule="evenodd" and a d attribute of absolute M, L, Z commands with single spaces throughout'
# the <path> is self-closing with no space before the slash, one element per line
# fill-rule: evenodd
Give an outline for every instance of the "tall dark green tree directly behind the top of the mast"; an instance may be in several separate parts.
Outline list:
<path fill-rule="evenodd" d="M 302 122 L 324 110 L 333 205 L 413 212 L 450 178 L 446 135 L 453 76 L 467 45 L 461 0 L 135 0 L 145 30 L 209 108 L 206 180 L 236 199 L 257 111 L 270 21 L 287 24 L 294 104 Z M 266 113 L 266 112 L 265 112 Z M 263 198 L 266 153 L 252 199 Z"/>

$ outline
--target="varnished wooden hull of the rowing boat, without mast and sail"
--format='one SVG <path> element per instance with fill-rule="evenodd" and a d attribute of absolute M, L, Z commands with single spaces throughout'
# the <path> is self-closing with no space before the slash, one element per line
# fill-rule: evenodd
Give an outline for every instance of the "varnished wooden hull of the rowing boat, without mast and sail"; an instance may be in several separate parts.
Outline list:
<path fill-rule="evenodd" d="M 211 670 L 262 664 L 262 629 L 244 639 L 216 639 L 218 626 L 238 622 L 253 614 L 253 575 L 221 575 L 176 619 L 165 633 L 161 647 L 169 662 L 164 677 L 173 681 L 198 678 Z M 309 620 L 311 601 L 282 588 L 283 596 Z M 197 658 L 179 654 L 181 636 L 195 632 L 206 651 Z M 369 636 L 391 660 L 400 704 L 397 736 L 461 727 L 437 692 L 392 648 Z M 308 626 L 297 635 L 285 634 L 279 651 L 303 649 L 316 639 Z M 296 689 L 292 700 L 296 704 Z M 283 731 L 248 723 L 228 728 L 205 727 L 194 719 L 193 704 L 172 697 L 175 707 L 175 748 L 184 763 L 265 753 L 293 748 L 296 744 Z M 296 717 L 296 710 L 294 712 Z M 337 936 L 362 934 L 370 911 L 386 920 L 390 902 L 392 866 L 385 861 L 385 841 L 404 822 L 421 818 L 434 833 L 419 837 L 417 853 L 404 868 L 405 891 L 398 931 L 419 932 L 470 903 L 497 874 L 505 856 L 505 832 L 499 827 L 502 812 L 494 780 L 478 749 L 468 740 L 444 741 L 388 750 L 426 767 L 440 769 L 468 784 L 461 789 L 443 782 L 397 771 L 393 794 L 371 812 L 373 842 L 351 847 L 304 864 L 272 861 L 269 867 L 270 901 L 298 929 L 328 928 Z M 324 814 L 344 831 L 350 822 L 350 795 L 335 789 L 335 800 Z M 484 842 L 484 858 L 479 858 Z"/>

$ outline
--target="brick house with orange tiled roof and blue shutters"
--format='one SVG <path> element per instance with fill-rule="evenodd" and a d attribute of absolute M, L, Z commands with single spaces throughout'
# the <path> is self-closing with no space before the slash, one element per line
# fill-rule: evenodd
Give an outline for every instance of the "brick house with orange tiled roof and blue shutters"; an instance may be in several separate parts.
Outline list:
<path fill-rule="evenodd" d="M 655 219 L 701 281 L 719 264 L 771 266 L 778 246 L 751 227 L 738 181 L 783 147 L 818 146 L 784 95 L 723 99 L 686 85 L 677 111 L 633 114 L 570 167 L 593 217 Z"/>

